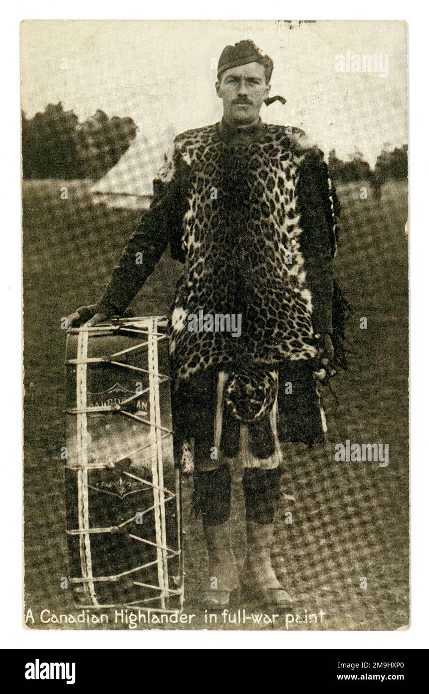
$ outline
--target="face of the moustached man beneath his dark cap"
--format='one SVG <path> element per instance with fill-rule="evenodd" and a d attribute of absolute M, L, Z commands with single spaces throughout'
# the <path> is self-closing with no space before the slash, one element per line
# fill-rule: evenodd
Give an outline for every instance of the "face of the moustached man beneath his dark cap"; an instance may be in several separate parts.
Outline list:
<path fill-rule="evenodd" d="M 265 69 L 259 62 L 231 67 L 216 82 L 216 92 L 223 101 L 223 117 L 227 123 L 251 125 L 259 118 L 263 100 L 270 93 L 265 82 Z"/>

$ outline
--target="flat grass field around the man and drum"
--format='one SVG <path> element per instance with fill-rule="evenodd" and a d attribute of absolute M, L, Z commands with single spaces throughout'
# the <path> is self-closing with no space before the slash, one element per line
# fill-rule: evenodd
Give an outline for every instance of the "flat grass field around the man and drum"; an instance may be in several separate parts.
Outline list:
<path fill-rule="evenodd" d="M 60 200 L 67 185 L 69 198 Z M 62 316 L 102 294 L 138 211 L 91 206 L 89 181 L 24 182 L 25 588 L 37 616 L 74 612 L 64 535 Z M 408 625 L 408 239 L 405 184 L 383 200 L 360 200 L 358 183 L 340 184 L 342 237 L 338 281 L 354 313 L 348 325 L 349 371 L 326 396 L 323 446 L 288 444 L 283 489 L 296 502 L 279 508 L 273 561 L 295 600 L 293 612 L 326 613 L 324 623 L 291 629 L 398 629 Z M 132 306 L 161 314 L 181 266 L 164 256 Z M 367 330 L 360 317 L 367 317 Z M 334 462 L 335 443 L 388 443 L 389 465 Z M 184 480 L 186 612 L 198 612 L 206 567 L 200 520 L 189 517 L 192 482 Z M 233 484 L 234 545 L 243 561 L 243 493 Z M 292 511 L 292 524 L 283 521 Z M 362 577 L 367 588 L 360 588 Z M 240 607 L 256 611 L 250 602 Z M 31 627 L 31 623 L 28 624 Z M 46 625 L 48 627 L 49 625 Z M 207 628 L 198 622 L 198 626 Z M 85 627 L 84 627 L 85 628 Z M 125 627 L 127 628 L 127 627 Z M 238 629 L 231 625 L 231 629 Z M 270 625 L 259 627 L 271 629 Z M 274 628 L 284 628 L 283 623 Z"/>

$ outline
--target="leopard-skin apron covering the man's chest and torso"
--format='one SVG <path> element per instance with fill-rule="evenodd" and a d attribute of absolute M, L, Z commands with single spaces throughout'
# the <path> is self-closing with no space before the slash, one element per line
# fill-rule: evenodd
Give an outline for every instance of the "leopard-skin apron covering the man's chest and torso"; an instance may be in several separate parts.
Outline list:
<path fill-rule="evenodd" d="M 266 126 L 249 146 L 222 142 L 216 126 L 175 139 L 157 176 L 168 183 L 189 167 L 183 218 L 186 257 L 172 307 L 170 355 L 177 380 L 215 365 L 245 371 L 283 359 L 310 359 L 312 303 L 299 237 L 297 182 L 304 133 Z M 190 332 L 189 314 L 241 314 L 242 335 Z"/>

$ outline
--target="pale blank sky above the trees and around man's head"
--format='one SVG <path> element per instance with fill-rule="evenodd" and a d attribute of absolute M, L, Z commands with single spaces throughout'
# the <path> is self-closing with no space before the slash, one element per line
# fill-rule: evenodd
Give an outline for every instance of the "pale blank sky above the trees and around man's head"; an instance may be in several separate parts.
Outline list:
<path fill-rule="evenodd" d="M 383 145 L 407 142 L 406 31 L 396 21 L 26 21 L 22 108 L 32 117 L 63 101 L 81 121 L 97 109 L 130 116 L 149 140 L 170 123 L 212 124 L 220 53 L 250 38 L 274 61 L 270 94 L 287 99 L 263 105 L 263 121 L 302 128 L 343 159 L 357 146 L 374 165 Z M 362 70 L 367 54 L 381 56 L 377 72 Z"/>

